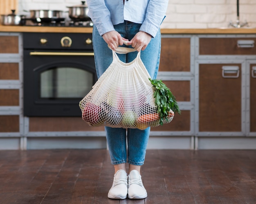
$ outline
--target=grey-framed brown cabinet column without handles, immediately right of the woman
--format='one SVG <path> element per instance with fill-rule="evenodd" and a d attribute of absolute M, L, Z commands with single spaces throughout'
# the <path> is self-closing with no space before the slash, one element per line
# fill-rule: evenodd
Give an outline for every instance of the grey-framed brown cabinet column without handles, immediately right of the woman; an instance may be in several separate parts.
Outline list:
<path fill-rule="evenodd" d="M 171 123 L 151 128 L 149 148 L 193 149 L 193 37 L 162 34 L 161 58 L 157 79 L 176 97 L 182 114 Z"/>

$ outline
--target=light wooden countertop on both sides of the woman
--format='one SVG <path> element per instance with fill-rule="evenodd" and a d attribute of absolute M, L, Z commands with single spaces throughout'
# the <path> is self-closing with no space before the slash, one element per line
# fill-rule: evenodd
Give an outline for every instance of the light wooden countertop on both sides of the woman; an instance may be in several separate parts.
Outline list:
<path fill-rule="evenodd" d="M 35 33 L 92 33 L 88 27 L 48 27 L 48 26 L 2 26 L 0 32 Z M 161 29 L 162 34 L 256 34 L 256 28 L 218 29 Z"/>

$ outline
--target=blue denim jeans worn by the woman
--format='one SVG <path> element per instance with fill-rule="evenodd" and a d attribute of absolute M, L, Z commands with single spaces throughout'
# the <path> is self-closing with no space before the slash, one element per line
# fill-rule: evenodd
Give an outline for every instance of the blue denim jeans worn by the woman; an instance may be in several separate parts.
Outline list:
<path fill-rule="evenodd" d="M 125 21 L 114 27 L 122 37 L 130 40 L 139 31 L 140 26 L 141 24 Z M 96 26 L 93 27 L 92 43 L 97 77 L 99 78 L 112 63 L 112 50 L 108 48 L 104 39 L 99 35 Z M 151 39 L 147 48 L 141 51 L 141 60 L 152 79 L 156 79 L 157 77 L 160 48 L 161 35 L 160 31 L 158 31 L 157 35 Z M 121 61 L 128 63 L 137 57 L 137 52 L 117 55 Z M 105 130 L 112 165 L 126 162 L 139 166 L 144 164 L 150 127 L 145 130 L 127 129 L 127 135 L 126 129 L 123 128 L 105 127 Z"/>

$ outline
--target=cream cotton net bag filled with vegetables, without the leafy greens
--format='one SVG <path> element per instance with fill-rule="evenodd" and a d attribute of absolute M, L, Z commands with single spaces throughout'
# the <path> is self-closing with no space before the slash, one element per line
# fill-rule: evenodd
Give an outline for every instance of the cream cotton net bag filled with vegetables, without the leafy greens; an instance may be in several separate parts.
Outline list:
<path fill-rule="evenodd" d="M 155 90 L 140 52 L 129 63 L 122 62 L 117 56 L 117 53 L 133 51 L 136 50 L 124 47 L 112 50 L 112 63 L 80 101 L 82 118 L 90 126 L 146 129 L 160 124 Z M 163 122 L 170 123 L 173 116 L 174 112 L 169 111 Z"/>

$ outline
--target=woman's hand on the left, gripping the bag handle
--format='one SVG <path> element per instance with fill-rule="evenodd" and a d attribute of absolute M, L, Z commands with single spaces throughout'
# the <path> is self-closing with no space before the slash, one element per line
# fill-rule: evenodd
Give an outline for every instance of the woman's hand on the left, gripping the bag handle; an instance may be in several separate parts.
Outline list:
<path fill-rule="evenodd" d="M 123 40 L 128 41 L 128 39 L 122 37 L 117 31 L 109 31 L 103 34 L 102 37 L 112 50 L 116 50 L 119 45 L 123 45 Z"/>

